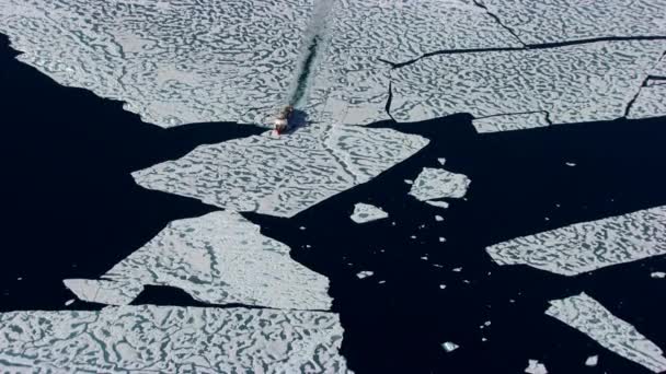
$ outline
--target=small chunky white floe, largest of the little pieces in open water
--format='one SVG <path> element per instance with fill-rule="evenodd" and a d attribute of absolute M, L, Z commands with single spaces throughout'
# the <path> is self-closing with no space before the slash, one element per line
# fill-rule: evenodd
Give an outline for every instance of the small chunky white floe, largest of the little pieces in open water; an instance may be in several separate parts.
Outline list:
<path fill-rule="evenodd" d="M 410 195 L 421 201 L 461 198 L 470 186 L 467 175 L 456 174 L 444 168 L 424 167 L 412 185 Z"/>

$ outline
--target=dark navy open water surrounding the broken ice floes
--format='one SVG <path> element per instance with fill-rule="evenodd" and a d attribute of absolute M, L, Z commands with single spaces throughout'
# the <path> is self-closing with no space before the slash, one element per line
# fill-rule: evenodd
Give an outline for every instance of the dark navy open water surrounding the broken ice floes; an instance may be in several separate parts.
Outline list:
<path fill-rule="evenodd" d="M 58 85 L 15 55 L 0 36 L 0 309 L 100 308 L 82 302 L 66 307 L 73 295 L 61 279 L 100 277 L 168 222 L 216 209 L 146 190 L 129 173 L 261 129 L 199 124 L 164 130 L 118 102 Z M 549 300 L 585 291 L 666 348 L 666 281 L 650 278 L 666 270 L 664 256 L 566 278 L 497 267 L 483 248 L 666 204 L 666 119 L 491 135 L 476 135 L 470 119 L 376 124 L 432 142 L 370 183 L 294 219 L 245 215 L 288 244 L 298 261 L 331 279 L 345 328 L 343 354 L 357 373 L 523 373 L 528 359 L 555 374 L 648 373 L 543 312 Z M 466 200 L 451 200 L 446 210 L 407 196 L 403 182 L 424 166 L 439 167 L 437 157 L 472 179 Z M 355 224 L 348 217 L 356 202 L 382 207 L 391 217 Z M 451 271 L 458 267 L 461 272 Z M 375 276 L 359 280 L 360 270 Z M 149 288 L 136 303 L 141 302 L 200 305 L 169 288 Z M 486 320 L 492 325 L 480 329 Z M 461 348 L 446 353 L 444 341 Z M 593 369 L 584 365 L 592 354 L 599 354 Z"/>

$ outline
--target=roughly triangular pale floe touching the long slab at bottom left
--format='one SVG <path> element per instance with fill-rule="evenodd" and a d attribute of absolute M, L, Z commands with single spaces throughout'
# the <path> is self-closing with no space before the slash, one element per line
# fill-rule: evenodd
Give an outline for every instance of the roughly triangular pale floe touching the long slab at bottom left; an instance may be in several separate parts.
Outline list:
<path fill-rule="evenodd" d="M 79 299 L 112 305 L 131 302 L 145 284 L 176 287 L 211 304 L 331 307 L 325 277 L 292 260 L 289 247 L 230 211 L 171 222 L 101 281 L 66 281 Z"/>

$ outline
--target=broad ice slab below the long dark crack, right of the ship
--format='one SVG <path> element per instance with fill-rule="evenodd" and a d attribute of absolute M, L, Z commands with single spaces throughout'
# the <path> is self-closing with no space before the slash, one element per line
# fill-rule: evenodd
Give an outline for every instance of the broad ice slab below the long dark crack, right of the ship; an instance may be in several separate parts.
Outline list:
<path fill-rule="evenodd" d="M 548 112 L 553 124 L 615 119 L 664 49 L 664 40 L 631 40 L 436 55 L 391 73 L 391 114 L 398 121 L 526 112 Z M 531 116 L 510 121 L 518 129 L 543 125 Z"/>

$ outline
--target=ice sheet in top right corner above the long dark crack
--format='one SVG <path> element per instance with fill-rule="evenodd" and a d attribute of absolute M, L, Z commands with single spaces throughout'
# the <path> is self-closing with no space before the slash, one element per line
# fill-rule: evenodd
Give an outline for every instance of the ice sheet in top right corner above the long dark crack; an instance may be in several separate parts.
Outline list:
<path fill-rule="evenodd" d="M 479 0 L 526 44 L 666 35 L 666 1 Z"/>

